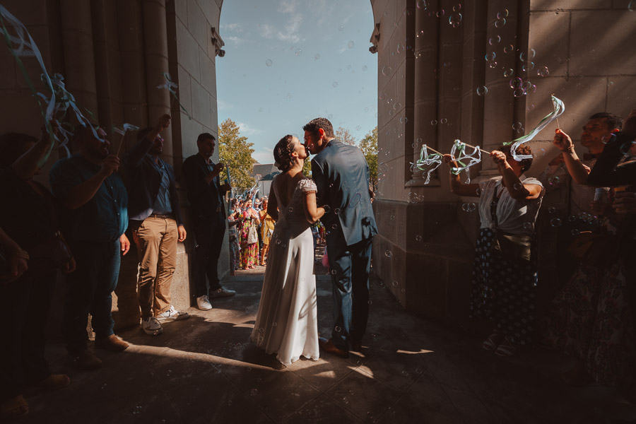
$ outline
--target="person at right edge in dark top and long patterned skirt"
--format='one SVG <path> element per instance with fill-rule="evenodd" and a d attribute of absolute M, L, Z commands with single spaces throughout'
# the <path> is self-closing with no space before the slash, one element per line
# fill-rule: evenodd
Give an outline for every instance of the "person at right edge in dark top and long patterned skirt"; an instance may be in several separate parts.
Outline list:
<path fill-rule="evenodd" d="M 577 358 L 563 374 L 582 386 L 597 382 L 636 400 L 636 111 L 608 141 L 589 173 L 589 184 L 611 186 L 600 234 L 553 302 L 546 342 Z M 621 151 L 621 147 L 626 148 Z"/>

